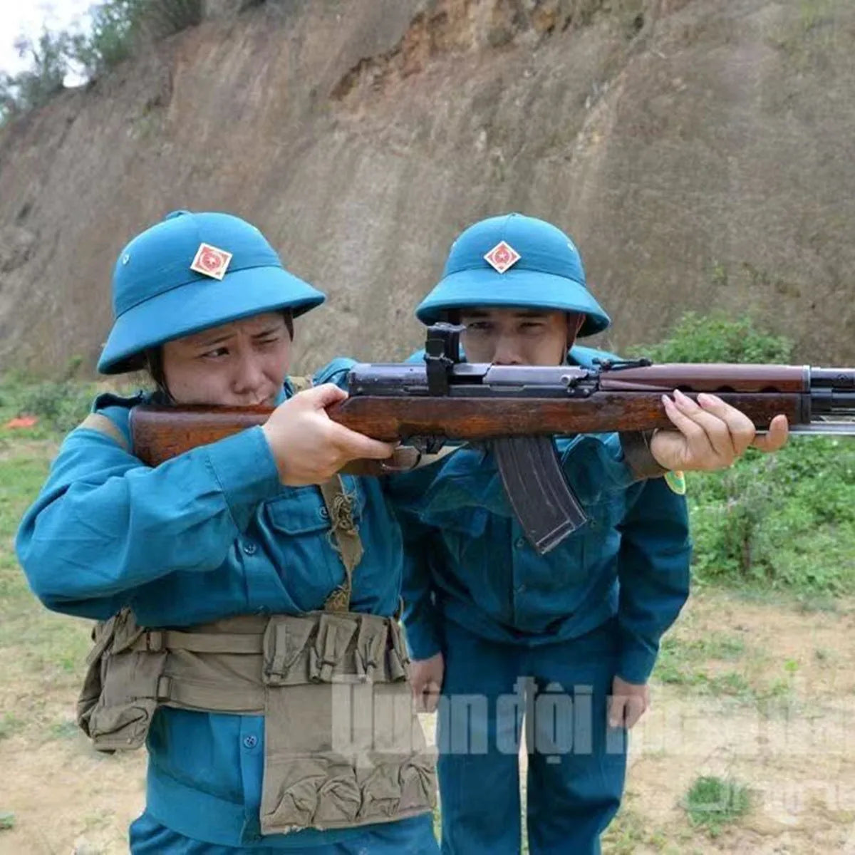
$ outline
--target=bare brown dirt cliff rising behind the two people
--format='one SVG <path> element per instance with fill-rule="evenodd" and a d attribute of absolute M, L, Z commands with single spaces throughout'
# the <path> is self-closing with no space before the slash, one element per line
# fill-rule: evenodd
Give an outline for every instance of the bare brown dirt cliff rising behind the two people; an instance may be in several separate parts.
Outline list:
<path fill-rule="evenodd" d="M 851 0 L 283 0 L 0 130 L 0 363 L 91 369 L 109 272 L 169 210 L 255 221 L 327 305 L 298 367 L 401 357 L 453 236 L 581 246 L 616 349 L 757 312 L 855 362 Z"/>

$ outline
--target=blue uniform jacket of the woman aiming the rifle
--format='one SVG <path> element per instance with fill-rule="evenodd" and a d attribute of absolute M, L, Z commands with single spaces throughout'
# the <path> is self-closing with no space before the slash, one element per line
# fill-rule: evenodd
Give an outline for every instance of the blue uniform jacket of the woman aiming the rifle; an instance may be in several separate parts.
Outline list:
<path fill-rule="evenodd" d="M 342 383 L 337 360 L 315 382 Z M 291 390 L 287 389 L 287 393 Z M 94 410 L 127 434 L 142 398 L 105 395 Z M 345 476 L 365 547 L 351 608 L 392 615 L 403 551 L 376 479 Z M 327 540 L 321 492 L 280 484 L 261 428 L 189 451 L 156 469 L 114 439 L 78 428 L 21 522 L 16 549 L 32 591 L 50 609 L 108 618 L 131 606 L 150 626 L 181 627 L 251 612 L 322 607 L 345 569 Z M 149 734 L 147 811 L 164 825 L 223 846 L 308 846 L 367 828 L 258 834 L 263 719 L 161 708 Z"/>

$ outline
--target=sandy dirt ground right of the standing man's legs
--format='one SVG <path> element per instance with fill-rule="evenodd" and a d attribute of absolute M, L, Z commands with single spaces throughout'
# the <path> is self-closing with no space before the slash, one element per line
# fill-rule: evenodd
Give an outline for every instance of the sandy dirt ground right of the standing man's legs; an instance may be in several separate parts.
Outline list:
<path fill-rule="evenodd" d="M 619 851 L 855 855 L 852 606 L 693 600 L 674 634 L 692 652 L 635 734 L 624 824 L 643 830 Z M 680 806 L 698 775 L 752 788 L 751 813 L 717 839 L 693 833 Z"/>

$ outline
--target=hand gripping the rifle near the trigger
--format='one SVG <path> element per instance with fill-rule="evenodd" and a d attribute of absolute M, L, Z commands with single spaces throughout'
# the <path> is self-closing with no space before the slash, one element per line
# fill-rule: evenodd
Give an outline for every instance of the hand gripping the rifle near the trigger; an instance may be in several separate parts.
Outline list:
<path fill-rule="evenodd" d="M 283 484 L 321 484 L 351 460 L 392 454 L 394 444 L 370 439 L 327 416 L 326 408 L 345 398 L 338 386 L 324 383 L 280 404 L 262 425 Z"/>

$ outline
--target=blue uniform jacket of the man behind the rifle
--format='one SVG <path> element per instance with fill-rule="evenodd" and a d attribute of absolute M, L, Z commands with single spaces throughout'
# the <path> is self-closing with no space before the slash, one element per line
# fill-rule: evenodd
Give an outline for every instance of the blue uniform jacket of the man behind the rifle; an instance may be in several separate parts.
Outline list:
<path fill-rule="evenodd" d="M 604 356 L 612 355 L 575 347 L 569 361 L 590 367 Z M 412 657 L 441 650 L 443 619 L 487 640 L 534 646 L 617 615 L 617 674 L 647 681 L 659 639 L 688 596 L 685 498 L 662 478 L 634 483 L 616 433 L 556 443 L 590 522 L 545 556 L 525 539 L 488 452 L 463 448 L 395 478 L 395 504 L 419 556 L 404 575 Z"/>

